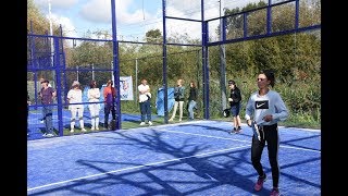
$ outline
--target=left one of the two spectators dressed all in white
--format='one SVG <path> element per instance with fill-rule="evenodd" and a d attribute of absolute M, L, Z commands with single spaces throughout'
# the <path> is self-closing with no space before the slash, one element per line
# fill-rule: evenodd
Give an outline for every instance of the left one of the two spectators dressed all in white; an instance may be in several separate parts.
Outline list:
<path fill-rule="evenodd" d="M 83 102 L 83 90 L 79 88 L 79 82 L 74 81 L 72 84 L 72 88 L 67 93 L 67 100 L 69 100 L 69 110 L 72 112 L 71 123 L 70 123 L 70 132 L 74 133 L 76 114 L 78 115 L 79 120 L 79 127 L 82 132 L 86 132 L 84 126 L 84 106 L 83 105 L 72 105 Z"/>

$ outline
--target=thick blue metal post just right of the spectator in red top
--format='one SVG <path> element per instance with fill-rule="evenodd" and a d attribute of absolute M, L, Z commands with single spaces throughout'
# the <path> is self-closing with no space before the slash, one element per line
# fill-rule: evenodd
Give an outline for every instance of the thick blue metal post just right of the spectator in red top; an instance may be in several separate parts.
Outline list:
<path fill-rule="evenodd" d="M 116 97 L 116 130 L 121 128 L 121 101 L 120 101 L 120 64 L 119 64 L 119 42 L 117 42 L 117 29 L 116 29 L 116 11 L 115 0 L 111 0 L 111 16 L 112 16 L 112 48 L 113 48 L 113 81 L 115 88 L 117 89 Z"/>

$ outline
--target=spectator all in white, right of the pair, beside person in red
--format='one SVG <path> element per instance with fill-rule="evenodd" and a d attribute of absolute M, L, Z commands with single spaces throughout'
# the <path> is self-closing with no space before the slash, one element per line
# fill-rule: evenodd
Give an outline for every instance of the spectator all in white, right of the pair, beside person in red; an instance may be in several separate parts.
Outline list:
<path fill-rule="evenodd" d="M 90 123 L 91 123 L 91 131 L 94 130 L 99 130 L 99 111 L 100 111 L 100 103 L 99 98 L 100 98 L 100 90 L 97 87 L 97 82 L 91 81 L 89 84 L 89 89 L 87 91 L 87 97 L 89 102 L 95 102 L 95 103 L 89 103 L 88 109 L 90 112 Z"/>

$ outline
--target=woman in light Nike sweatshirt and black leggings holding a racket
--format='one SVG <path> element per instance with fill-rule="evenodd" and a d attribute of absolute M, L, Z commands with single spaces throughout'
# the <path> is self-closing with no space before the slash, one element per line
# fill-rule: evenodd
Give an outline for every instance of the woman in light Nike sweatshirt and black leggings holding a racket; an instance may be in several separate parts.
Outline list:
<path fill-rule="evenodd" d="M 259 132 L 254 132 L 251 142 L 251 162 L 252 167 L 259 174 L 254 189 L 259 192 L 263 187 L 263 182 L 266 180 L 266 174 L 261 164 L 263 148 L 266 145 L 269 150 L 269 160 L 271 164 L 273 188 L 271 195 L 279 195 L 279 166 L 278 166 L 278 149 L 279 134 L 278 121 L 285 121 L 289 111 L 286 108 L 281 95 L 272 90 L 271 87 L 275 84 L 273 71 L 263 71 L 258 75 L 259 90 L 251 94 L 246 106 L 246 120 L 249 126 L 256 124 Z"/>

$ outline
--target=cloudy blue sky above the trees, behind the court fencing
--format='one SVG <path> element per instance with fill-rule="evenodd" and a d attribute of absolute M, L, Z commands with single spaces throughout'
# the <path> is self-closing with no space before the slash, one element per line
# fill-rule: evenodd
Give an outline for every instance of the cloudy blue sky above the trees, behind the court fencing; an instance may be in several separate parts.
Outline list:
<path fill-rule="evenodd" d="M 248 2 L 259 1 L 264 0 L 204 0 L 204 20 L 219 17 L 220 8 L 243 8 Z M 67 37 L 86 37 L 88 30 L 112 33 L 111 0 L 34 0 L 34 2 L 47 19 L 51 15 L 53 24 L 62 25 L 63 33 Z M 167 16 L 201 20 L 201 0 L 165 2 Z M 115 12 L 119 40 L 141 41 L 146 32 L 163 29 L 162 0 L 115 0 Z M 187 34 L 191 38 L 200 39 L 200 32 L 201 24 L 198 22 L 166 20 L 167 36 Z"/>

